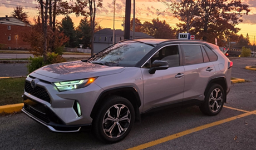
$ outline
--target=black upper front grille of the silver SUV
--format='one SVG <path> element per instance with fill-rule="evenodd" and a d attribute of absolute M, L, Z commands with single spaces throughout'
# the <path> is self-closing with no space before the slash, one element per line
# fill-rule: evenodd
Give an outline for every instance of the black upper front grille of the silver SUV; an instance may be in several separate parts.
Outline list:
<path fill-rule="evenodd" d="M 32 88 L 30 82 L 26 81 L 25 83 L 25 91 L 29 94 L 31 94 L 32 96 L 35 96 L 37 98 L 42 99 L 43 101 L 46 101 L 48 103 L 51 102 L 51 98 L 48 95 L 47 91 L 45 88 L 42 87 L 35 87 Z"/>

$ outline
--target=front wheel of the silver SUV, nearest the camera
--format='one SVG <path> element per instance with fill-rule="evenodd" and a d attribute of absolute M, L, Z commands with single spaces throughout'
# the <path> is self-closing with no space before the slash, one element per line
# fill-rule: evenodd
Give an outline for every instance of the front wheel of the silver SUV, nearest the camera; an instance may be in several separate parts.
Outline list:
<path fill-rule="evenodd" d="M 135 121 L 134 107 L 124 97 L 106 99 L 93 119 L 93 132 L 103 142 L 115 143 L 124 139 Z"/>

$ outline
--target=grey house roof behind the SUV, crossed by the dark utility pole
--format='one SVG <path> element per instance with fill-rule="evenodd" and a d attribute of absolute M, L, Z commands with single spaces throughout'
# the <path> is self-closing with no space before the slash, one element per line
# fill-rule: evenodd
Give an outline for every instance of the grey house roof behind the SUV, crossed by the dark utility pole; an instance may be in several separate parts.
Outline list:
<path fill-rule="evenodd" d="M 105 28 L 105 29 L 102 29 L 98 32 L 96 32 L 95 34 L 104 34 L 104 35 L 110 35 L 112 36 L 113 35 L 113 30 L 110 29 L 110 28 Z M 124 31 L 122 31 L 121 29 L 115 29 L 115 35 L 118 35 L 118 36 L 124 36 Z M 132 31 L 130 31 L 130 35 L 132 35 Z M 154 38 L 154 37 L 151 37 L 145 33 L 142 33 L 142 32 L 135 32 L 135 37 L 140 37 L 140 38 Z"/>

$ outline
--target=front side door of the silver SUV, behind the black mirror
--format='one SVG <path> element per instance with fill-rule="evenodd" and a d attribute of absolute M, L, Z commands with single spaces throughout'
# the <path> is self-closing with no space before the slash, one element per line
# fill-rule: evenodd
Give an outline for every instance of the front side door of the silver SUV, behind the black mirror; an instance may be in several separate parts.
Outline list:
<path fill-rule="evenodd" d="M 141 68 L 144 82 L 143 112 L 150 108 L 183 101 L 184 67 L 178 44 L 161 47 Z M 156 59 L 166 61 L 169 68 L 149 73 L 150 64 Z"/>

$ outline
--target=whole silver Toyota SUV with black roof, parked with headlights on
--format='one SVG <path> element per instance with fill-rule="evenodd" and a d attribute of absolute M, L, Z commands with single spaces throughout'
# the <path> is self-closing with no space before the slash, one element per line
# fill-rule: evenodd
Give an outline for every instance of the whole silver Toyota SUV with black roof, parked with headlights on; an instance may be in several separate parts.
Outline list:
<path fill-rule="evenodd" d="M 54 132 L 91 127 L 101 141 L 118 142 L 154 108 L 193 104 L 218 114 L 232 66 L 218 46 L 203 41 L 122 41 L 87 60 L 29 74 L 22 111 Z"/>

